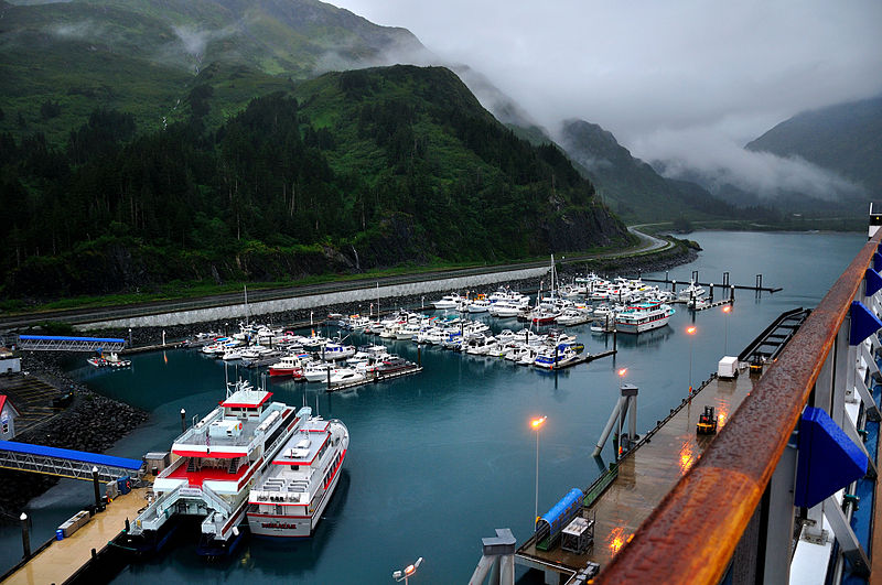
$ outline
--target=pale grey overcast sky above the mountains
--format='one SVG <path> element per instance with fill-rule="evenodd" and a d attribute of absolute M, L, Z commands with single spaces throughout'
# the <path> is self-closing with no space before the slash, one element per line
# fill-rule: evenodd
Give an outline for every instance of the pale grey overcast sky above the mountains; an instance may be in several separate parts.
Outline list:
<path fill-rule="evenodd" d="M 332 3 L 409 29 L 552 132 L 582 118 L 635 155 L 708 172 L 760 172 L 744 143 L 802 110 L 882 94 L 879 0 Z"/>

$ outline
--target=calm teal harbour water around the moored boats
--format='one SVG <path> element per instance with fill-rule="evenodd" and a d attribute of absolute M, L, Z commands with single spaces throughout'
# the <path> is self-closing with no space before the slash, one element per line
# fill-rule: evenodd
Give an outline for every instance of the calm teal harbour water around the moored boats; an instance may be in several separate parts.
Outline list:
<path fill-rule="evenodd" d="M 192 545 L 129 567 L 118 583 L 384 583 L 391 572 L 423 556 L 412 583 L 467 582 L 481 556 L 481 538 L 510 528 L 519 542 L 534 514 L 536 436 L 528 421 L 547 415 L 539 437 L 539 513 L 572 487 L 600 473 L 593 444 L 616 400 L 617 368 L 639 388 L 638 432 L 664 418 L 693 383 L 708 377 L 723 355 L 736 354 L 785 310 L 814 306 L 865 241 L 865 236 L 826 234 L 697 232 L 698 260 L 670 270 L 688 280 L 752 284 L 762 273 L 776 294 L 738 291 L 733 312 L 719 308 L 692 317 L 682 305 L 669 326 L 637 337 L 619 336 L 619 355 L 558 373 L 525 369 L 504 360 L 423 349 L 424 371 L 347 394 L 315 386 L 267 382 L 277 400 L 306 402 L 338 418 L 352 442 L 344 475 L 316 534 L 295 543 L 251 540 L 228 562 L 206 563 Z M 649 277 L 652 274 L 644 274 Z M 664 273 L 656 274 L 664 277 Z M 719 291 L 717 291 L 719 296 Z M 514 319 L 492 319 L 496 331 Z M 685 328 L 695 324 L 693 338 Z M 587 326 L 576 327 L 589 351 L 606 348 Z M 362 339 L 356 339 L 362 340 Z M 611 343 L 611 342 L 610 342 Z M 391 344 L 416 360 L 417 347 Z M 206 414 L 224 392 L 224 366 L 192 350 L 136 356 L 130 370 L 77 368 L 98 392 L 151 413 L 150 421 L 121 441 L 115 455 L 140 457 L 165 451 L 180 433 L 180 411 Z M 229 368 L 230 377 L 236 376 Z M 239 373 L 247 376 L 247 370 Z M 259 383 L 259 379 L 252 380 Z M 609 461 L 612 446 L 604 451 Z M 87 483 L 64 480 L 31 502 L 34 541 L 89 502 Z M 18 529 L 0 530 L 0 561 L 20 554 Z"/>

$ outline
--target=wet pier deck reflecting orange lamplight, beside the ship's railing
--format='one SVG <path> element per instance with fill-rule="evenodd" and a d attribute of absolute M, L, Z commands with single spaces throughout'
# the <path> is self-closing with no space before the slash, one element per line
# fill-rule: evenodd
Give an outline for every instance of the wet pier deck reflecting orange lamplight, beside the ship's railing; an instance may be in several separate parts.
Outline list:
<path fill-rule="evenodd" d="M 746 370 L 733 380 L 712 378 L 625 454 L 619 463 L 617 477 L 593 501 L 585 499 L 582 516 L 589 518 L 596 512 L 594 544 L 585 553 L 567 552 L 560 545 L 537 550 L 534 535 L 518 549 L 516 562 L 567 576 L 589 562 L 603 567 L 716 436 L 696 434 L 704 405 L 714 407 L 722 429 L 752 388 Z"/>

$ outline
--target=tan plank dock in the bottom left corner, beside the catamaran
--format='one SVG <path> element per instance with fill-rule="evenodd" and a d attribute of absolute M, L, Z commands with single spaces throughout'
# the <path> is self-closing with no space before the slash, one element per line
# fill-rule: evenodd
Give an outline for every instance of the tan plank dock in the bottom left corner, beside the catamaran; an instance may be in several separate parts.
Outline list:
<path fill-rule="evenodd" d="M 69 538 L 52 543 L 36 553 L 18 571 L 9 575 L 4 585 L 46 585 L 64 583 L 92 559 L 92 551 L 100 551 L 119 534 L 126 519 L 133 519 L 147 506 L 148 488 L 136 488 L 107 505 L 89 522 Z"/>

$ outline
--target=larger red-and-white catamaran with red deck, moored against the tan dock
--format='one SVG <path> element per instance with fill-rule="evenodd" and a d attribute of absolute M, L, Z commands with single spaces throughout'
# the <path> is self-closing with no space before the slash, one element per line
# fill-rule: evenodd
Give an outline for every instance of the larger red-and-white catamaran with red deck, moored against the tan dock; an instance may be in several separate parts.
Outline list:
<path fill-rule="evenodd" d="M 271 392 L 248 382 L 228 384 L 226 399 L 174 440 L 171 466 L 153 481 L 153 501 L 120 544 L 136 553 L 158 551 L 181 516 L 203 518 L 196 551 L 224 556 L 240 543 L 248 491 L 298 425 L 293 407 L 270 402 Z"/>

